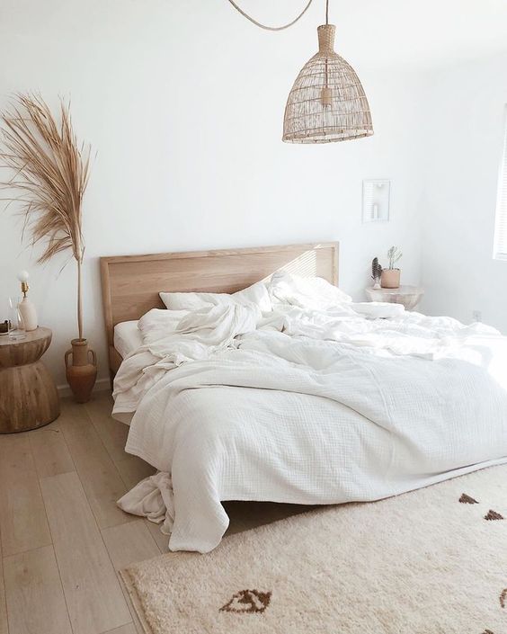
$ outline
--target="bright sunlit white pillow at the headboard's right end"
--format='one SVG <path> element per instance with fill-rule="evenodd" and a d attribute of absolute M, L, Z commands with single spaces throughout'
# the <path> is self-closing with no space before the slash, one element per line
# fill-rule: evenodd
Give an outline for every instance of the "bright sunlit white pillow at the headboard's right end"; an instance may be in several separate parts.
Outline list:
<path fill-rule="evenodd" d="M 283 271 L 273 274 L 268 288 L 273 305 L 328 310 L 352 300 L 350 295 L 322 277 L 301 277 Z"/>

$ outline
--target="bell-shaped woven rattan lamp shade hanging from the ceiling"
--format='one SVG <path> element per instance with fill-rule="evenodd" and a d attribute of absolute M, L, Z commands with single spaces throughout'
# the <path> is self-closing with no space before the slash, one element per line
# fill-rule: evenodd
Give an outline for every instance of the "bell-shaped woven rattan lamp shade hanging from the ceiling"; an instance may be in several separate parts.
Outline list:
<path fill-rule="evenodd" d="M 317 28 L 319 50 L 301 69 L 287 100 L 287 143 L 330 143 L 369 137 L 369 103 L 351 65 L 334 52 L 334 24 Z"/>

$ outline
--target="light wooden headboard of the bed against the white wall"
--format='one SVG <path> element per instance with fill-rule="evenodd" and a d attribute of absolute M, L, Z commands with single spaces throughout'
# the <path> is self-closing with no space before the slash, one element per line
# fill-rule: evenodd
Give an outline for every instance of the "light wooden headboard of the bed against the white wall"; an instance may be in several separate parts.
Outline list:
<path fill-rule="evenodd" d="M 102 299 L 111 378 L 122 358 L 114 326 L 164 308 L 162 291 L 234 293 L 276 271 L 338 283 L 338 243 L 101 257 Z"/>

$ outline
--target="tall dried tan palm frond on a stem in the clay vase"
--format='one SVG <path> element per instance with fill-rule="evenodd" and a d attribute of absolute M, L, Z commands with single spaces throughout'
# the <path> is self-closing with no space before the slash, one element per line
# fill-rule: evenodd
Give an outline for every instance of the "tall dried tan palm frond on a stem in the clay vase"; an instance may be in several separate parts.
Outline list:
<path fill-rule="evenodd" d="M 70 251 L 77 263 L 77 329 L 83 338 L 81 267 L 84 256 L 82 203 L 90 174 L 90 146 L 78 145 L 69 104 L 60 100 L 59 123 L 40 95 L 17 94 L 1 120 L 0 160 L 10 177 L 0 187 L 13 191 L 4 199 L 19 203 L 22 236 L 42 243 L 39 263 Z"/>

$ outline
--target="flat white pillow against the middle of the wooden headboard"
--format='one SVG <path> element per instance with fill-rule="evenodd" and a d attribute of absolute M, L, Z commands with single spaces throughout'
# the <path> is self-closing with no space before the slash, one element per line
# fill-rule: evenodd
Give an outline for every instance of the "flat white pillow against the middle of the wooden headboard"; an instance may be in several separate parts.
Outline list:
<path fill-rule="evenodd" d="M 256 304 L 263 312 L 272 310 L 270 294 L 262 281 L 236 293 L 158 293 L 169 310 L 199 310 L 219 304 Z"/>

